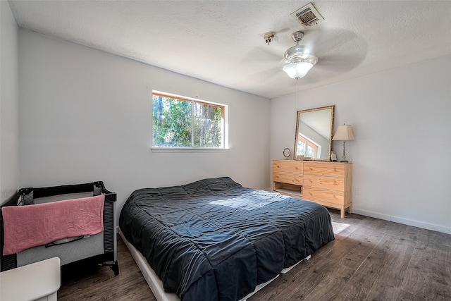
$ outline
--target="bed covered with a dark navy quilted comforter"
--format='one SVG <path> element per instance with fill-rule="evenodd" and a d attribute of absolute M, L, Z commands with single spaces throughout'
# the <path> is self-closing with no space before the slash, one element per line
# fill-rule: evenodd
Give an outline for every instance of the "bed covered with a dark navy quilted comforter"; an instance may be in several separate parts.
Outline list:
<path fill-rule="evenodd" d="M 321 205 L 228 177 L 135 190 L 119 226 L 180 300 L 240 300 L 334 239 Z"/>

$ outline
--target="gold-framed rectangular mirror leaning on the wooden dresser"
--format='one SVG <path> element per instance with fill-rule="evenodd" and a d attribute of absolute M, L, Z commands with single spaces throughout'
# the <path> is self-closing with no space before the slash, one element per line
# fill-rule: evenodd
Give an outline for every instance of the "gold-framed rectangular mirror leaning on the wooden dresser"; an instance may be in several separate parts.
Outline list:
<path fill-rule="evenodd" d="M 295 160 L 330 161 L 335 106 L 297 111 Z"/>

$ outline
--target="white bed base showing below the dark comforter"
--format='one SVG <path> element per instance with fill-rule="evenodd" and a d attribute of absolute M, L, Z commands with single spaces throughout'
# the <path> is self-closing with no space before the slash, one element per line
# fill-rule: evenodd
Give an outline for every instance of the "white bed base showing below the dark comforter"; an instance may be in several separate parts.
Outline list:
<path fill-rule="evenodd" d="M 152 267 L 147 262 L 147 259 L 142 255 L 142 253 L 135 248 L 130 242 L 128 242 L 127 238 L 123 235 L 121 228 L 118 230 L 119 235 L 121 235 L 121 238 L 125 245 L 127 246 L 128 250 L 130 251 L 130 254 L 132 254 L 133 259 L 135 259 L 135 262 L 140 268 L 140 271 L 142 273 L 142 276 L 144 276 L 144 279 L 146 280 L 147 284 L 149 285 L 150 290 L 152 290 L 152 293 L 154 293 L 154 296 L 156 300 L 158 301 L 180 301 L 180 298 L 178 295 L 175 295 L 175 293 L 166 293 L 163 288 L 163 282 L 160 280 L 160 278 L 156 275 L 155 271 L 152 269 Z M 305 257 L 300 262 L 297 262 L 297 264 L 303 262 L 304 260 L 309 260 L 311 258 L 311 255 Z M 280 271 L 280 274 L 286 274 L 288 271 L 290 271 L 292 268 L 297 266 L 297 264 L 294 264 L 286 269 L 283 269 Z M 251 297 L 255 293 L 257 293 L 259 290 L 264 288 L 266 285 L 271 283 L 274 279 L 278 278 L 279 275 L 272 278 L 270 281 L 267 281 L 265 283 L 261 283 L 257 285 L 255 290 L 252 293 L 249 293 L 246 297 L 242 298 L 239 301 L 246 301 L 247 298 Z"/>

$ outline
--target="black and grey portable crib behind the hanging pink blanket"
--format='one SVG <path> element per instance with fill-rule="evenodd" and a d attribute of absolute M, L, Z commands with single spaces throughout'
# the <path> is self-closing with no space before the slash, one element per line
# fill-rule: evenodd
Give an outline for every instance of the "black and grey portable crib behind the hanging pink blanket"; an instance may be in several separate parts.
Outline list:
<path fill-rule="evenodd" d="M 51 257 L 59 257 L 61 266 L 68 270 L 81 263 L 95 263 L 109 266 L 115 275 L 119 274 L 116 254 L 116 193 L 106 190 L 101 181 L 76 185 L 62 185 L 46 188 L 22 188 L 16 192 L 6 206 L 27 206 L 63 199 L 76 199 L 96 195 L 105 195 L 104 231 L 89 238 L 74 240 L 52 247 L 37 246 L 16 254 L 3 255 L 4 225 L 0 211 L 0 256 L 1 271 L 25 266 Z"/>

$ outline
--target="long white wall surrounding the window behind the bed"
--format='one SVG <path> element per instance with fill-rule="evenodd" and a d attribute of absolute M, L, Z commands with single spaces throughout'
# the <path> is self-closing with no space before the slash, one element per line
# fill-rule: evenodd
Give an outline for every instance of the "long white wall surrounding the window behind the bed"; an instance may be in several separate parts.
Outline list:
<path fill-rule="evenodd" d="M 152 51 L 152 49 L 149 49 Z M 230 176 L 268 189 L 269 99 L 19 31 L 20 186 L 137 188 Z M 230 150 L 151 152 L 152 90 L 229 106 Z"/>

